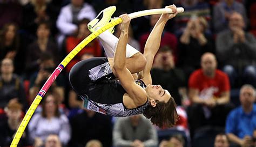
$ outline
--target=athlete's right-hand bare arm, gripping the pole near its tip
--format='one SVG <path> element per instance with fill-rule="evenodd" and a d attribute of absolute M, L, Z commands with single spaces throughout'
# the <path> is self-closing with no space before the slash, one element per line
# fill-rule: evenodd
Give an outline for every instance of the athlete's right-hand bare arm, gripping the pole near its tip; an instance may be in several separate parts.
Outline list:
<path fill-rule="evenodd" d="M 156 25 L 154 26 L 153 30 L 149 35 L 149 38 L 147 39 L 147 42 L 144 48 L 144 54 L 143 54 L 147 62 L 144 70 L 139 73 L 139 78 L 143 79 L 146 85 L 152 84 L 150 70 L 152 68 L 154 56 L 157 54 L 158 49 L 160 47 L 161 34 L 163 33 L 164 26 L 169 19 L 175 17 L 177 14 L 177 9 L 175 5 L 166 6 L 165 8 L 171 8 L 172 11 L 175 13 L 161 14 L 161 17 L 157 21 Z"/>

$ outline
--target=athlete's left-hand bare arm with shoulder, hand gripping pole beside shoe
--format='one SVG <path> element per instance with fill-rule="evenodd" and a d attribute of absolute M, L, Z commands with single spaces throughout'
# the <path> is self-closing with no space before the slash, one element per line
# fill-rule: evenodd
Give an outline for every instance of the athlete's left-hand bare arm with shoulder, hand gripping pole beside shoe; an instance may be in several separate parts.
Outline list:
<path fill-rule="evenodd" d="M 113 73 L 119 78 L 122 86 L 128 93 L 126 98 L 130 100 L 126 100 L 129 102 L 129 106 L 138 107 L 145 104 L 147 101 L 146 92 L 134 82 L 131 72 L 126 67 L 126 43 L 128 40 L 128 30 L 131 18 L 127 14 L 123 14 L 120 18 L 123 19 L 123 23 L 116 53 L 114 54 Z"/>

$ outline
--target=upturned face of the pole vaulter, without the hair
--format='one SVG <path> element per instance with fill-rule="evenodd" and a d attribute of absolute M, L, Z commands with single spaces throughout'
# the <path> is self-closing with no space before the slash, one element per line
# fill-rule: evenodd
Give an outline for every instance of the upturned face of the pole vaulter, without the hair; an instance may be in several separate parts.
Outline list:
<path fill-rule="evenodd" d="M 171 98 L 169 91 L 164 90 L 160 85 L 147 85 L 146 87 L 147 97 L 153 107 L 156 106 L 157 102 L 167 102 Z"/>

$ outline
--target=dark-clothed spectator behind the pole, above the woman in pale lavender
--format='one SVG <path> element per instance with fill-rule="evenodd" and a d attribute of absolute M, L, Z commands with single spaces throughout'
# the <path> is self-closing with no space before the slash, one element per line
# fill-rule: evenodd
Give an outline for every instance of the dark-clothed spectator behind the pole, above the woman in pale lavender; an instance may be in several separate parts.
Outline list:
<path fill-rule="evenodd" d="M 55 70 L 53 57 L 48 53 L 42 54 L 39 68 L 39 71 L 33 73 L 30 78 L 29 102 L 32 102 L 51 73 Z M 59 105 L 64 101 L 64 82 L 64 77 L 60 74 L 51 87 Z"/>

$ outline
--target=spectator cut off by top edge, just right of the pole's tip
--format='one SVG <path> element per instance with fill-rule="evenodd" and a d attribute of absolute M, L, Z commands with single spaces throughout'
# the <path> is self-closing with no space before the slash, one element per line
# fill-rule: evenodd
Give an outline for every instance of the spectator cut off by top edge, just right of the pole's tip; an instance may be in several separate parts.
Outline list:
<path fill-rule="evenodd" d="M 207 2 L 198 0 L 184 0 L 178 2 L 180 3 L 176 4 L 176 6 L 183 7 L 185 11 L 175 18 L 174 28 L 177 36 L 183 34 L 188 21 L 193 20 L 196 17 L 203 17 L 207 20 L 207 24 L 210 24 L 210 5 Z M 210 33 L 209 30 L 207 30 L 207 32 Z"/>

